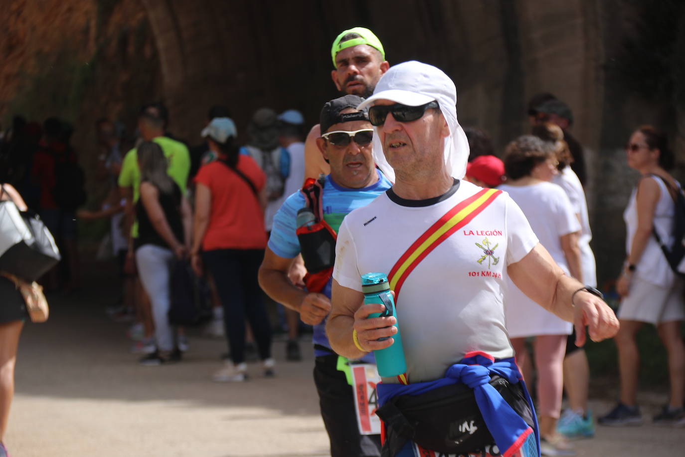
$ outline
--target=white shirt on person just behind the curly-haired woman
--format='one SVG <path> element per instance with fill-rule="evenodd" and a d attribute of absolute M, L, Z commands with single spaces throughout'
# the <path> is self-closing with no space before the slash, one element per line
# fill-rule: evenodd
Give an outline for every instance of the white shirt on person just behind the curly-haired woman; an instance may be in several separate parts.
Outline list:
<path fill-rule="evenodd" d="M 595 263 L 595 254 L 590 248 L 593 233 L 590 231 L 585 190 L 583 190 L 580 180 L 570 166 L 564 167 L 558 175 L 552 178 L 552 182 L 564 189 L 566 196 L 571 201 L 573 211 L 580 218 L 581 232 L 578 238 L 578 247 L 580 248 L 580 269 L 583 273 L 582 282 L 588 286 L 597 287 L 597 264 Z"/>

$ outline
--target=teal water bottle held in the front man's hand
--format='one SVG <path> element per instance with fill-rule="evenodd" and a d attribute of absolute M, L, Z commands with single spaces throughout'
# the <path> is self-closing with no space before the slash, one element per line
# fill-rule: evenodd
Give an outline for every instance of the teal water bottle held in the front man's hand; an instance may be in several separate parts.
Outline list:
<path fill-rule="evenodd" d="M 362 275 L 362 292 L 364 293 L 364 304 L 379 303 L 386 307 L 384 312 L 369 314 L 369 318 L 395 316 L 395 319 L 397 319 L 395 300 L 393 299 L 393 295 L 390 294 L 390 282 L 388 282 L 388 276 L 385 273 L 366 273 L 365 275 Z M 404 348 L 402 347 L 402 338 L 399 336 L 397 322 L 395 322 L 394 326 L 397 328 L 397 333 L 393 335 L 395 343 L 385 349 L 373 351 L 376 358 L 378 374 L 383 378 L 392 378 L 393 376 L 401 375 L 407 371 L 407 364 L 404 360 Z M 388 338 L 379 338 L 378 341 L 386 339 Z"/>

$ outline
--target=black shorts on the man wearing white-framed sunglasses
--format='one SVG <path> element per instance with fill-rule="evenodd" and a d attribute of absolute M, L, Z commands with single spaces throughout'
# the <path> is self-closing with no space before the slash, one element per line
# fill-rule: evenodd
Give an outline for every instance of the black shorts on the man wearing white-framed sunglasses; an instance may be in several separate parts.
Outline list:
<path fill-rule="evenodd" d="M 331 457 L 378 457 L 380 435 L 362 435 L 357 425 L 352 386 L 337 369 L 338 356 L 316 357 L 314 384 L 319 392 L 321 417 L 331 442 Z"/>

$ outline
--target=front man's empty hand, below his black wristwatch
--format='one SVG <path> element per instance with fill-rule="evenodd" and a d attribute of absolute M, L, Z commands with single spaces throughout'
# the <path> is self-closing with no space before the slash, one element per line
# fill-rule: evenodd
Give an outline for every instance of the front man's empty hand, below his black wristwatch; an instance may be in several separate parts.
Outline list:
<path fill-rule="evenodd" d="M 619 319 L 604 301 L 586 291 L 573 297 L 573 325 L 575 326 L 575 345 L 582 347 L 586 341 L 585 326 L 592 341 L 612 338 L 619 332 Z"/>

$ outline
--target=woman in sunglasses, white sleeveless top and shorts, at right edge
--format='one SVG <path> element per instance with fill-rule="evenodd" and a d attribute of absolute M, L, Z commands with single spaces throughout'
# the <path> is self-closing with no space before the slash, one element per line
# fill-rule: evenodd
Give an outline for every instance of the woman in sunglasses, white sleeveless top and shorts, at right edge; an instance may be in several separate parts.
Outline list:
<path fill-rule="evenodd" d="M 685 425 L 685 347 L 680 326 L 685 319 L 684 281 L 673 273 L 653 236 L 656 231 L 662 240 L 671 240 L 673 201 L 675 193 L 682 190 L 667 173 L 673 167 L 674 158 L 662 132 L 651 125 L 638 127 L 625 149 L 628 166 L 639 171 L 642 177 L 623 212 L 627 257 L 616 280 L 616 292 L 621 295 L 621 330 L 615 337 L 619 350 L 621 397 L 611 412 L 599 418 L 599 423 L 635 425 L 643 421 L 636 404 L 639 355 L 635 336 L 647 322 L 656 325 L 659 338 L 667 349 L 671 380 L 669 404 L 653 421 L 682 426 Z"/>

